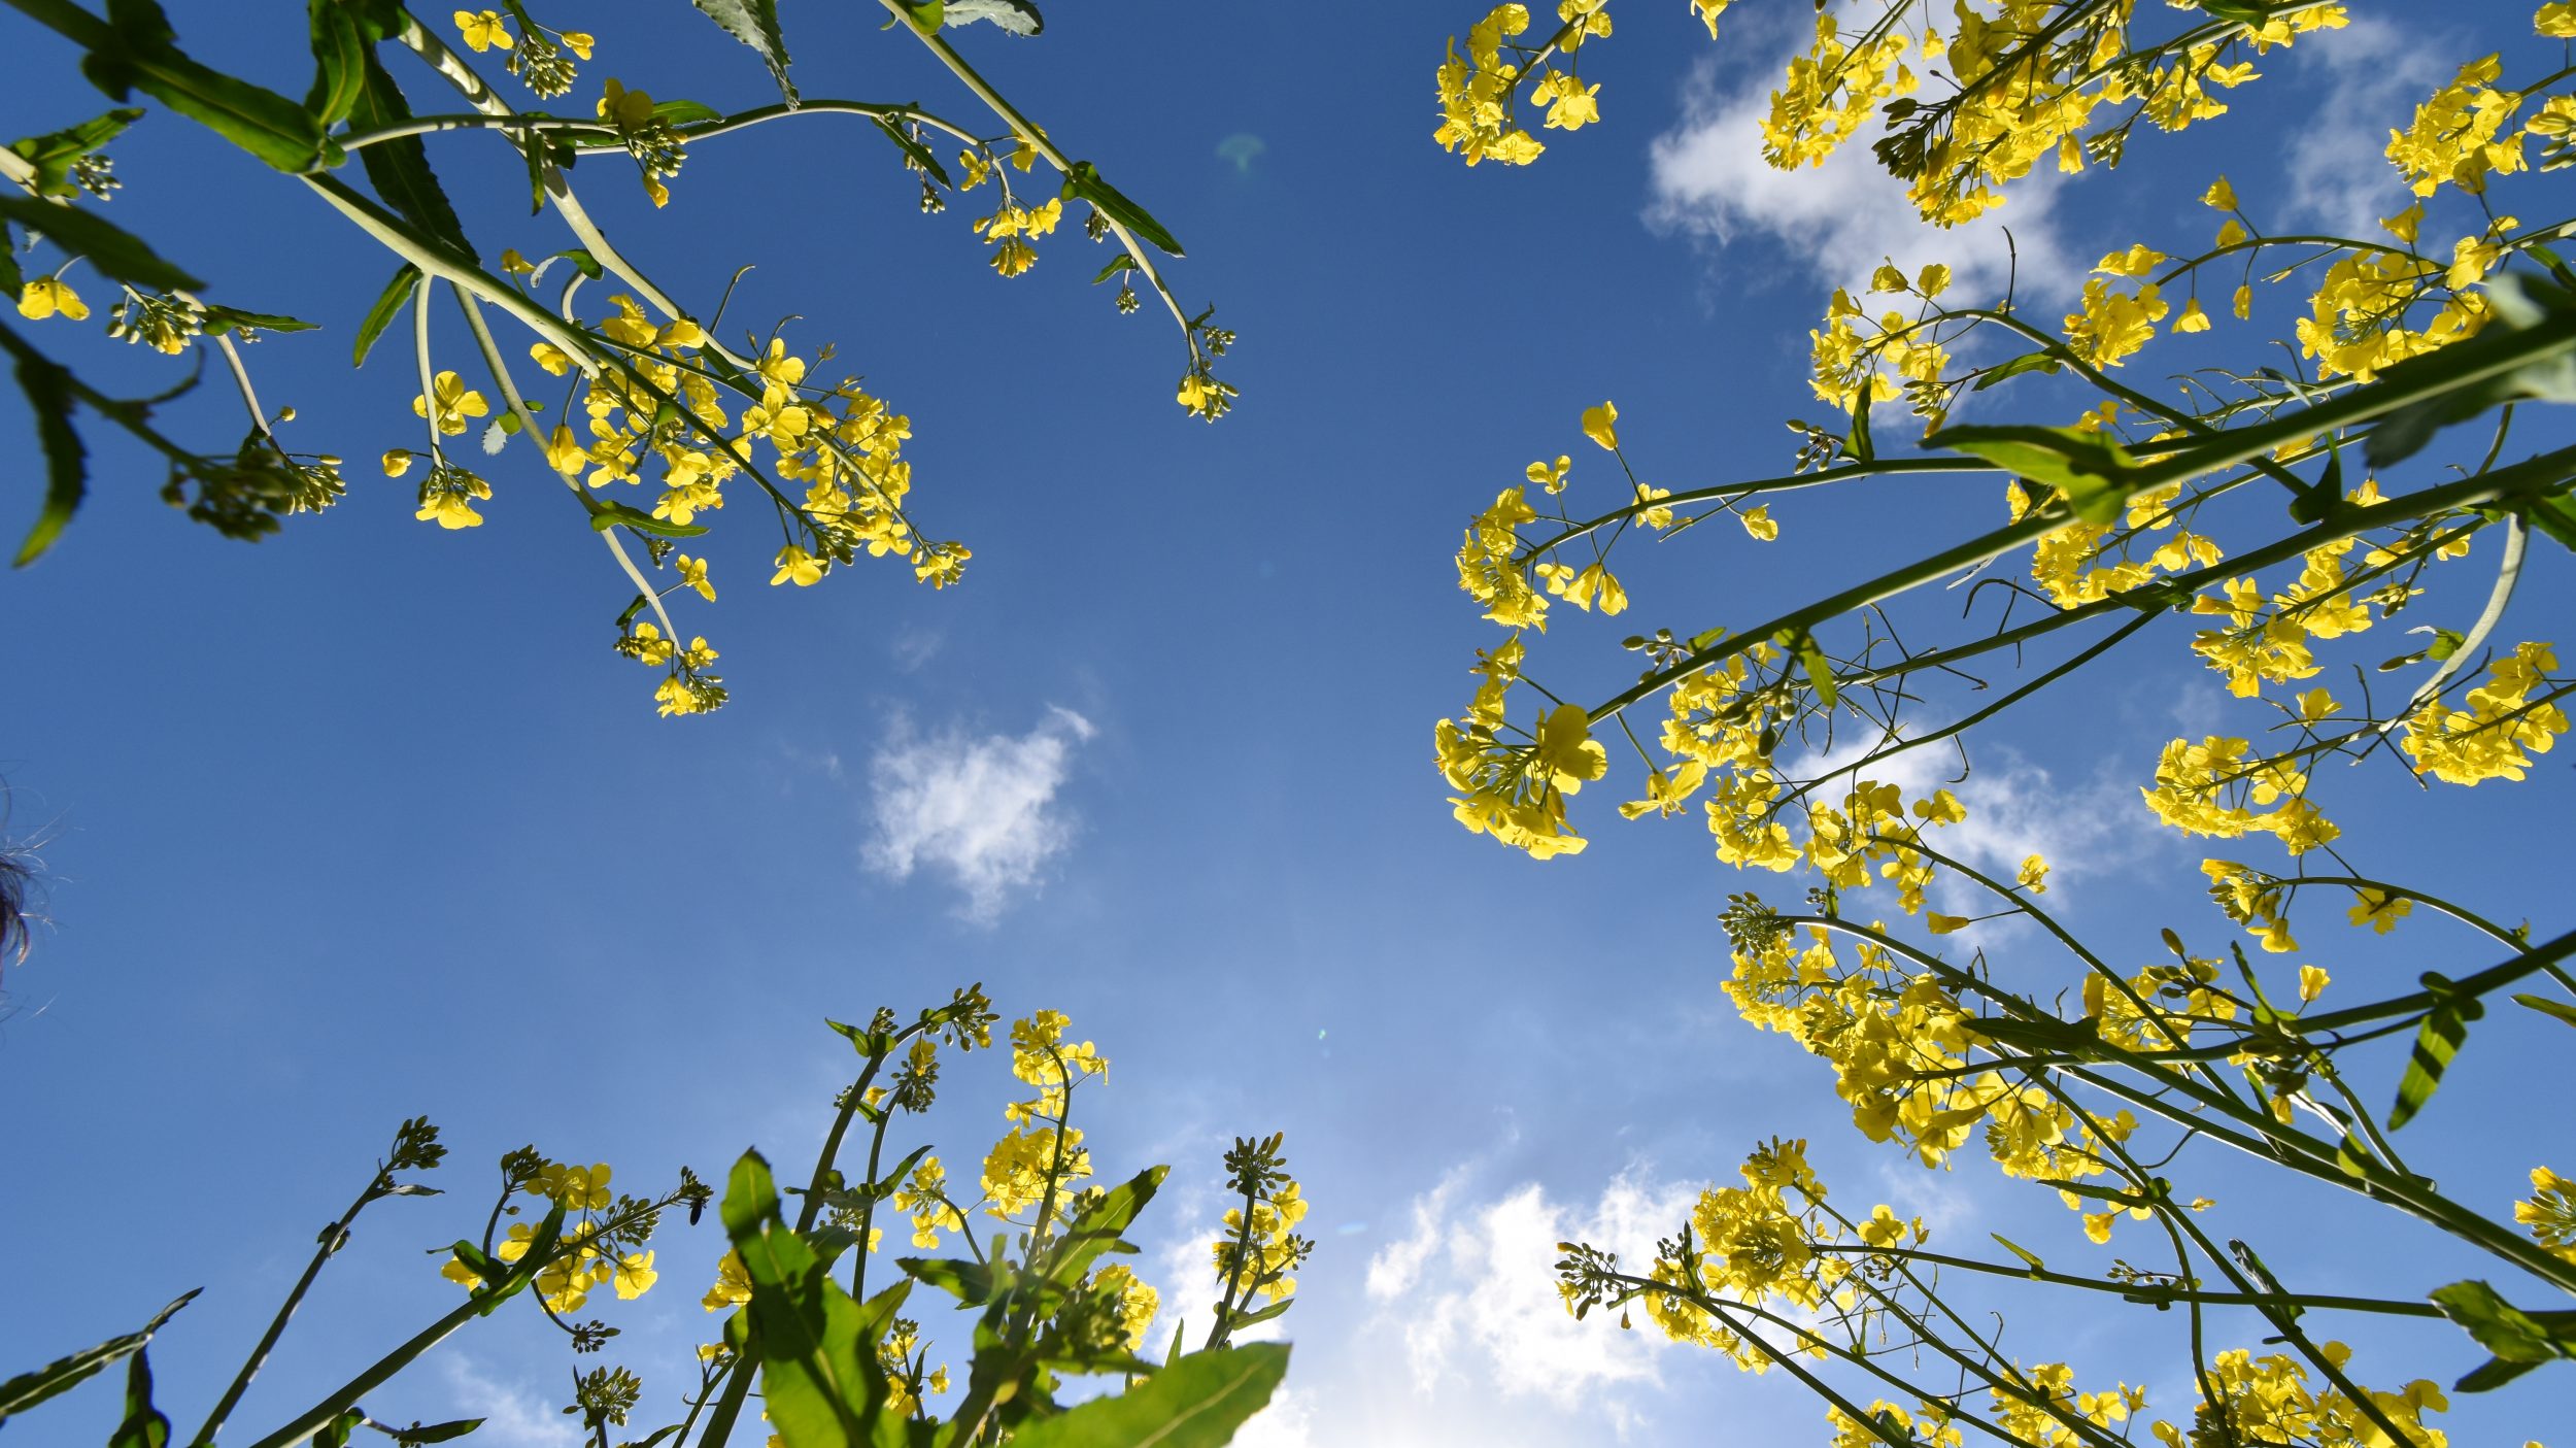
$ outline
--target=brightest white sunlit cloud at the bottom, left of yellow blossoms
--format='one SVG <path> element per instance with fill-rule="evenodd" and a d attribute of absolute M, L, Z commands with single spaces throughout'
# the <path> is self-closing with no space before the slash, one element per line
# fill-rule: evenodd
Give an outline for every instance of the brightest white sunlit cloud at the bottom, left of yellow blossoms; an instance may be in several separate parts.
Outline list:
<path fill-rule="evenodd" d="M 1458 1203 L 1461 1183 L 1463 1170 L 1414 1198 L 1412 1234 L 1368 1262 L 1368 1296 L 1401 1335 L 1414 1389 L 1432 1394 L 1468 1378 L 1479 1391 L 1540 1396 L 1558 1409 L 1607 1404 L 1625 1430 L 1636 1415 L 1625 1394 L 1662 1381 L 1656 1355 L 1667 1342 L 1600 1317 L 1577 1322 L 1548 1268 L 1558 1242 L 1651 1257 L 1695 1193 L 1623 1172 L 1592 1206 L 1548 1201 L 1538 1183 Z"/>

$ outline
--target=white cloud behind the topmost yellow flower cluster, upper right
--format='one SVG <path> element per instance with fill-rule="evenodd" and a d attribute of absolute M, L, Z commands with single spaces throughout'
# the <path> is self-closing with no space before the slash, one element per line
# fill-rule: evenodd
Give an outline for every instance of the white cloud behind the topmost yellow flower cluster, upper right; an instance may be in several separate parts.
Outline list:
<path fill-rule="evenodd" d="M 1785 54 L 1783 54 L 1785 59 Z M 1762 116 L 1780 67 L 1757 67 L 1723 88 L 1703 64 L 1682 98 L 1682 124 L 1654 139 L 1654 204 L 1646 219 L 1718 247 L 1744 237 L 1777 242 L 1824 286 L 1860 286 L 1883 258 L 1909 276 L 1950 263 L 1953 286 L 1984 301 L 2017 278 L 2025 296 L 2074 289 L 2081 263 L 2066 255 L 2050 222 L 2063 178 L 2040 167 L 2012 186 L 2012 204 L 1965 227 L 1937 229 L 1906 201 L 1901 180 L 1878 167 L 1878 126 L 1847 142 L 1821 167 L 1772 170 L 1762 160 Z M 2004 234 L 2009 227 L 2009 237 Z"/>

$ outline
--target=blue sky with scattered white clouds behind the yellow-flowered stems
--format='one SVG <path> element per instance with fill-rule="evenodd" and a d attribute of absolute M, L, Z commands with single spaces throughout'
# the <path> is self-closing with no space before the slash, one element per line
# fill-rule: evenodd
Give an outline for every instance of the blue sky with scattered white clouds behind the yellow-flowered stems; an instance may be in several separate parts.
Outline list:
<path fill-rule="evenodd" d="M 618 75 L 762 103 L 750 52 L 675 0 L 629 10 L 541 13 L 600 33 L 585 88 Z M 206 59 L 301 88 L 291 8 L 173 15 Z M 806 93 L 966 108 L 902 36 L 786 18 Z M 2084 1257 L 2045 1193 L 1865 1149 L 1819 1064 L 1734 1020 L 1716 910 L 1747 881 L 1708 858 L 1698 824 L 1618 827 L 1587 796 L 1592 850 L 1540 866 L 1448 819 L 1430 724 L 1458 711 L 1471 649 L 1492 642 L 1448 562 L 1463 520 L 1530 456 L 1582 448 L 1577 412 L 1602 397 L 1659 479 L 1775 472 L 1780 420 L 1816 412 L 1806 327 L 1824 291 L 1880 250 L 1927 245 L 1888 227 L 1850 170 L 1808 178 L 1803 196 L 1837 198 L 1814 206 L 1741 167 L 1726 142 L 1788 33 L 1759 13 L 1713 49 L 1685 15 L 1623 8 L 1587 57 L 1607 124 L 1538 167 L 1471 173 L 1427 137 L 1432 64 L 1473 18 L 1149 0 L 1115 18 L 1056 5 L 1028 44 L 961 36 L 1190 245 L 1182 299 L 1213 299 L 1242 332 L 1226 376 L 1244 399 L 1216 428 L 1170 402 L 1172 330 L 1084 286 L 1090 247 L 1059 237 L 1036 273 L 992 278 L 969 209 L 914 214 L 909 178 L 855 124 L 708 142 L 665 214 L 616 165 L 585 165 L 585 196 L 649 271 L 711 296 L 757 263 L 737 319 L 799 312 L 793 338 L 837 338 L 914 420 L 930 531 L 976 551 L 948 593 L 886 567 L 768 590 L 757 528 L 719 528 L 724 598 L 690 624 L 734 688 L 714 719 L 652 716 L 649 675 L 605 647 L 623 585 L 528 459 L 497 474 L 489 523 L 469 533 L 415 523 L 407 484 L 353 466 L 337 510 L 240 546 L 175 518 L 157 472 L 93 433 L 80 518 L 0 580 L 0 776 L 10 830 L 44 840 L 54 917 L 0 1023 L 18 1103 L 0 1232 L 21 1244 L 0 1363 L 129 1329 L 206 1286 L 155 1345 L 162 1399 L 193 1422 L 312 1226 L 399 1118 L 433 1116 L 453 1196 L 361 1224 L 242 1422 L 278 1417 L 451 1301 L 420 1250 L 471 1232 L 500 1152 L 533 1139 L 616 1162 L 621 1183 L 677 1162 L 714 1175 L 747 1144 L 809 1159 L 848 1080 L 822 1018 L 912 1010 L 963 982 L 1007 1015 L 1072 1013 L 1115 1062 L 1087 1129 L 1103 1172 L 1175 1167 L 1146 1232 L 1146 1275 L 1172 1306 L 1208 1296 L 1172 1262 L 1213 1226 L 1224 1144 L 1288 1134 L 1321 1244 L 1285 1319 L 1298 1360 L 1260 1427 L 1273 1445 L 1664 1443 L 1710 1422 L 1749 1443 L 1821 1438 L 1793 1384 L 1564 1322 L 1546 1281 L 1558 1237 L 1643 1247 L 1685 1190 L 1770 1134 L 1814 1136 L 1839 1193 L 1932 1211 L 1958 1244 L 1996 1226 Z M 2285 57 L 2246 116 L 2141 144 L 2120 183 L 2007 209 L 2025 286 L 2063 289 L 2133 240 L 2202 234 L 2213 219 L 2187 198 L 2218 170 L 2282 227 L 2393 211 L 2383 173 L 2349 196 L 2321 178 L 2352 173 L 2336 157 L 2367 152 L 2370 126 L 2401 121 L 2450 57 L 2524 23 L 2522 5 L 2409 10 L 2316 46 L 2324 59 Z M 103 108 L 33 26 L 0 18 L 0 44 L 31 57 L 10 134 Z M 1247 134 L 1262 142 L 1249 165 L 1221 155 Z M 386 271 L 374 252 L 175 119 L 155 116 L 116 160 L 116 216 L 165 237 L 214 296 L 330 325 L 255 353 L 268 402 L 301 410 L 301 446 L 417 446 L 399 361 L 343 366 Z M 569 245 L 551 216 L 526 216 L 497 142 L 448 142 L 438 160 L 487 252 Z M 1994 255 L 1976 240 L 1947 252 L 1963 268 Z M 103 379 L 157 374 L 103 343 L 75 356 Z M 173 410 L 183 433 L 234 435 L 214 392 Z M 0 410 L 0 451 L 28 448 L 23 415 Z M 1919 551 L 1927 531 L 1989 526 L 1994 497 L 1945 487 L 1806 495 L 1821 502 L 1775 508 L 1788 536 L 1772 549 L 1690 544 L 1651 569 L 1662 593 L 1636 616 L 1574 621 L 1592 624 L 1571 631 L 1600 652 L 1592 675 L 1566 662 L 1551 678 L 1610 683 L 1625 665 L 1607 639 L 1638 618 L 1744 624 Z M 31 487 L 0 497 L 10 526 L 31 513 Z M 2535 575 L 2514 636 L 2568 618 L 2566 557 L 2540 549 Z M 2455 608 L 2476 593 L 2463 585 Z M 2200 850 L 2130 840 L 2154 747 L 2226 716 L 2182 631 L 2138 672 L 2014 716 L 1981 755 L 1991 848 L 2048 848 L 2076 917 L 2141 958 L 2161 922 L 2213 928 Z M 1558 642 L 1558 657 L 1579 649 Z M 2347 827 L 2367 837 L 2403 788 L 2367 781 L 2349 799 Z M 2563 763 L 2406 809 L 2406 837 L 2375 845 L 2385 873 L 2532 912 L 2543 935 L 2566 925 L 2550 845 L 2478 848 L 2553 840 Z M 2486 964 L 2460 948 L 2424 928 L 2336 958 L 2388 979 L 2434 966 L 2427 951 Z M 2576 1162 L 2566 1116 L 2532 1113 L 2504 1067 L 2553 1046 L 2548 1028 L 2481 1025 L 2439 1123 L 2419 1126 L 2439 1134 L 2419 1147 L 2452 1162 L 2437 1175 L 2458 1196 L 2501 1208 L 2530 1165 Z M 966 1165 L 999 1131 L 1002 1082 L 953 1080 L 933 1136 Z M 2318 1291 L 2450 1281 L 2429 1234 L 2264 1196 L 2277 1188 L 2223 1162 L 2205 1180 L 2241 1183 L 2210 1190 L 2239 1214 L 2228 1232 Z M 711 1226 L 670 1234 L 662 1288 L 618 1317 L 623 1360 L 662 1402 L 708 1329 L 696 1291 L 719 1247 Z M 2391 1286 L 2388 1250 L 2424 1270 Z M 2151 1363 L 2156 1402 L 2187 1412 L 2177 1322 L 2004 1306 L 2027 1342 L 2071 1340 L 2102 1376 Z M 2385 1378 L 2447 1381 L 2476 1360 L 2442 1324 L 2362 1342 L 2385 1353 Z M 567 1360 L 544 1322 L 495 1322 L 368 1409 L 489 1412 L 500 1448 L 556 1443 Z M 2548 1378 L 2463 1402 L 2458 1440 L 2566 1420 L 2576 1389 Z M 44 1433 L 103 1433 L 108 1399 L 44 1409 Z"/>

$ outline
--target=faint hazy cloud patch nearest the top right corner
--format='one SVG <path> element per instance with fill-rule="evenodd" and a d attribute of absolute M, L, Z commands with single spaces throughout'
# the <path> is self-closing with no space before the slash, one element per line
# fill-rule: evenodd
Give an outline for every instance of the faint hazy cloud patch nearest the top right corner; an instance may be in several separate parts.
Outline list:
<path fill-rule="evenodd" d="M 2378 234 L 2414 196 L 2388 165 L 2388 131 L 2414 116 L 2414 103 L 2447 77 L 2445 46 L 2393 21 L 2354 15 L 2342 31 L 2316 36 L 2290 54 L 2326 75 L 2326 95 L 2290 131 L 2285 155 L 2290 211 L 2318 227 Z M 2262 204 L 2239 188 L 2262 216 Z"/>

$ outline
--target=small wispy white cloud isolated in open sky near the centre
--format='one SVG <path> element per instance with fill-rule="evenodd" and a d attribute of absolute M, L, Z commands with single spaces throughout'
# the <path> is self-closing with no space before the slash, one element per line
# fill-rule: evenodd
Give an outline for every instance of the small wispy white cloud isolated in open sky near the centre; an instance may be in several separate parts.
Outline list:
<path fill-rule="evenodd" d="M 963 915 L 992 922 L 1072 843 L 1074 822 L 1056 791 L 1074 747 L 1090 737 L 1090 719 L 1054 706 L 1020 737 L 976 739 L 963 729 L 914 737 L 896 721 L 894 742 L 868 763 L 876 791 L 868 868 L 894 879 L 922 866 L 945 871 L 966 891 Z"/>

